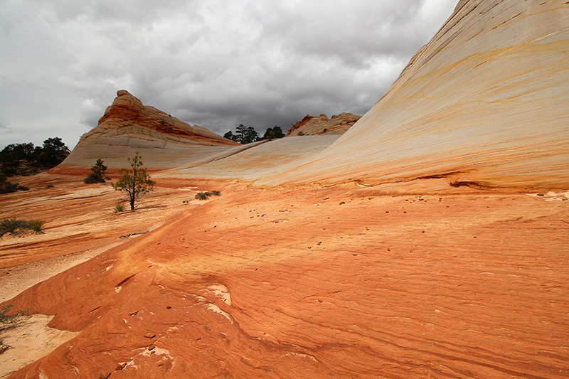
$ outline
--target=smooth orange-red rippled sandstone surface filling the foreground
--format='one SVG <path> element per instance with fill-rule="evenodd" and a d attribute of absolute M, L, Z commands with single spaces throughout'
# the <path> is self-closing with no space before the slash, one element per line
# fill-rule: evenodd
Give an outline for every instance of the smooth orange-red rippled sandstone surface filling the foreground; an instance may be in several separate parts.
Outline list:
<path fill-rule="evenodd" d="M 11 378 L 569 375 L 565 195 L 227 188 L 12 299 L 80 333 Z"/>

